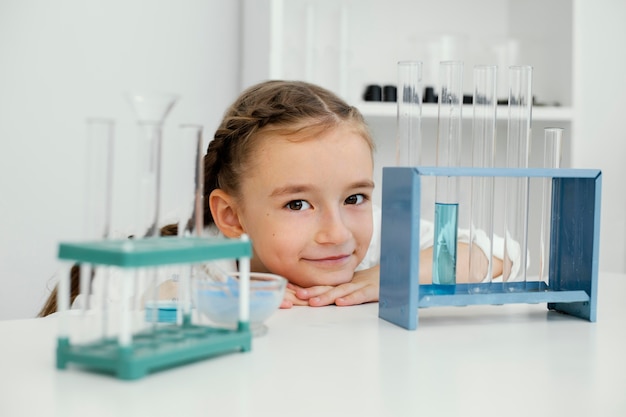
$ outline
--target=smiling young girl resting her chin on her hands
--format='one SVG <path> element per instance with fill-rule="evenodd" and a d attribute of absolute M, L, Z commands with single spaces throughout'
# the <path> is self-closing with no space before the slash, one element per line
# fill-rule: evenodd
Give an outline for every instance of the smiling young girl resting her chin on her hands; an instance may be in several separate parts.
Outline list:
<path fill-rule="evenodd" d="M 373 151 L 362 115 L 330 91 L 297 81 L 255 85 L 226 111 L 204 157 L 207 234 L 247 234 L 251 270 L 289 281 L 283 308 L 377 301 Z M 427 222 L 421 230 L 420 281 L 429 282 L 433 231 Z M 162 234 L 176 234 L 175 226 Z M 459 265 L 467 259 L 467 245 L 459 244 Z M 501 269 L 494 261 L 494 276 Z M 72 300 L 78 269 L 73 272 Z M 467 270 L 457 274 L 467 280 Z M 171 284 L 162 285 L 162 298 L 175 295 Z M 53 292 L 40 315 L 55 303 Z"/>

